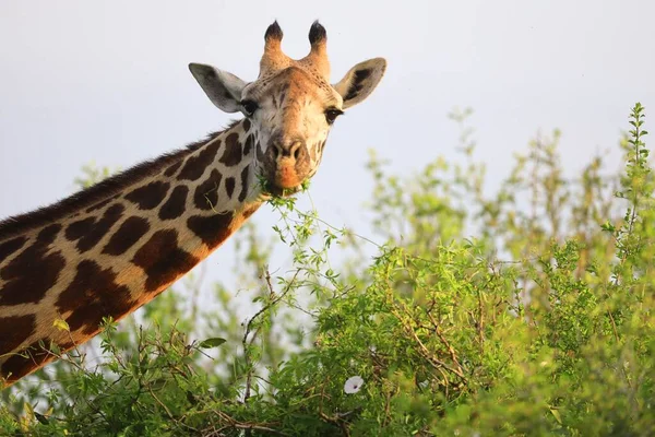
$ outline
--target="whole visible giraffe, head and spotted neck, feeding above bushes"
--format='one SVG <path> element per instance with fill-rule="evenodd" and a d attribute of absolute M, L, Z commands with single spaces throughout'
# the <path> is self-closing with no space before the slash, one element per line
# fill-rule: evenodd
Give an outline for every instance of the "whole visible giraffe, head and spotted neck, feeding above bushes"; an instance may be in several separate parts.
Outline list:
<path fill-rule="evenodd" d="M 146 304 L 223 244 L 271 196 L 291 196 L 321 162 L 344 110 L 376 88 L 386 61 L 369 59 L 330 83 L 326 32 L 310 52 L 264 35 L 253 82 L 189 64 L 210 101 L 243 118 L 49 206 L 0 222 L 0 388 Z M 59 320 L 68 330 L 58 329 Z"/>

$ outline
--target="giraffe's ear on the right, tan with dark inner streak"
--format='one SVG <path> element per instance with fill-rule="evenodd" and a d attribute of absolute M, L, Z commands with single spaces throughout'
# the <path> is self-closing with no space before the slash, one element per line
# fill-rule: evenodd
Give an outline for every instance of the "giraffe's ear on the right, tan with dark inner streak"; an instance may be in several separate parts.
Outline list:
<path fill-rule="evenodd" d="M 332 85 L 344 98 L 343 109 L 355 106 L 368 97 L 386 70 L 384 58 L 369 59 L 353 67 L 338 83 Z"/>

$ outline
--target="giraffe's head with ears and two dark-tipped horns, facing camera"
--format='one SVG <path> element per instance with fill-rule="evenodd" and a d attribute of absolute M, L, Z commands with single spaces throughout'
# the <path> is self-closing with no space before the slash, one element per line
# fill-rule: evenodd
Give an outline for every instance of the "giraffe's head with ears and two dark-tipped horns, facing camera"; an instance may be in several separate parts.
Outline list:
<path fill-rule="evenodd" d="M 318 21 L 312 24 L 311 50 L 299 60 L 282 51 L 282 36 L 277 22 L 266 29 L 253 82 L 211 66 L 189 66 L 214 105 L 246 116 L 257 139 L 255 173 L 274 194 L 294 192 L 314 175 L 335 119 L 368 97 L 386 68 L 384 59 L 370 59 L 330 84 L 325 28 Z"/>

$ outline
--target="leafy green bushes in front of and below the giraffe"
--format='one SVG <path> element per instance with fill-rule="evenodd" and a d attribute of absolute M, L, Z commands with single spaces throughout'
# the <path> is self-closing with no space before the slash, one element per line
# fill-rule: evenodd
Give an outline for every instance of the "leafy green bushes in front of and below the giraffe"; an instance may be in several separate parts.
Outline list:
<path fill-rule="evenodd" d="M 567 179 L 556 131 L 516 156 L 493 194 L 468 115 L 452 115 L 461 163 L 438 158 L 403 179 L 371 155 L 382 244 L 274 199 L 293 263 L 271 273 L 273 246 L 252 224 L 240 232 L 246 321 L 247 292 L 217 284 L 200 305 L 191 277 L 184 294 L 107 320 L 94 346 L 2 392 L 0 434 L 652 435 L 643 107 L 620 175 L 595 156 Z"/>

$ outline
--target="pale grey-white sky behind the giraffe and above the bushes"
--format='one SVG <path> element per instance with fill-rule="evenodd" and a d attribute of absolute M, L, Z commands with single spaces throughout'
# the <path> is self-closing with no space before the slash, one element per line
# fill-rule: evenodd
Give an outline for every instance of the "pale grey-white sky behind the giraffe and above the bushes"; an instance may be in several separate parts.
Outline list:
<path fill-rule="evenodd" d="M 565 167 L 612 150 L 634 102 L 655 120 L 655 2 L 642 1 L 2 1 L 0 216 L 71 193 L 95 161 L 127 168 L 224 127 L 187 66 L 257 76 L 266 26 L 283 49 L 327 29 L 333 81 L 385 57 L 385 78 L 340 118 L 311 185 L 319 213 L 370 235 L 367 150 L 401 174 L 456 155 L 454 107 L 474 108 L 489 189 L 512 154 L 559 128 Z M 655 122 L 655 121 L 653 121 Z M 650 127 L 655 132 L 655 127 Z M 646 138 L 647 139 L 647 138 Z M 654 137 L 655 139 L 655 137 Z M 255 214 L 266 223 L 269 206 Z M 231 248 L 213 258 L 221 263 Z M 223 258 L 222 258 L 223 257 Z"/>

